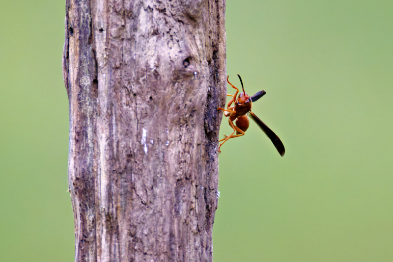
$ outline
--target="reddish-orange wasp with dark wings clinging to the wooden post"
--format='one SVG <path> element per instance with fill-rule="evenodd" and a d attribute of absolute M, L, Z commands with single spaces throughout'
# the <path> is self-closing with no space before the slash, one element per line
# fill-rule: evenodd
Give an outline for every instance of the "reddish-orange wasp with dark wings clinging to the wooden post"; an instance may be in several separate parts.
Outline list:
<path fill-rule="evenodd" d="M 229 76 L 226 78 L 226 81 L 228 84 L 230 84 L 233 88 L 236 89 L 236 93 L 232 96 L 227 94 L 227 96 L 232 97 L 232 99 L 229 101 L 228 105 L 226 106 L 226 109 L 224 108 L 217 108 L 218 110 L 223 110 L 224 115 L 229 117 L 229 126 L 233 129 L 233 133 L 231 133 L 228 136 L 224 136 L 224 139 L 219 140 L 219 142 L 224 141 L 223 143 L 220 144 L 218 148 L 218 152 L 221 153 L 220 147 L 230 138 L 242 136 L 245 134 L 246 130 L 250 126 L 250 121 L 247 115 L 253 119 L 253 121 L 260 127 L 260 129 L 265 132 L 265 134 L 272 140 L 273 145 L 276 147 L 277 151 L 280 153 L 281 157 L 284 156 L 285 154 L 285 148 L 284 145 L 282 144 L 280 138 L 270 129 L 268 128 L 265 123 L 263 123 L 252 111 L 251 107 L 253 107 L 253 102 L 257 101 L 260 99 L 264 94 L 266 94 L 265 91 L 259 91 L 252 97 L 246 94 L 244 92 L 244 87 L 243 87 L 243 81 L 239 75 L 237 75 L 240 79 L 240 83 L 242 84 L 243 88 L 243 93 L 240 93 L 238 99 L 236 99 L 237 93 L 239 92 L 239 89 L 237 89 L 233 84 L 231 84 L 228 80 Z M 234 103 L 235 105 L 232 105 Z M 233 121 L 236 120 L 235 124 L 233 124 Z M 236 134 L 234 135 L 234 133 Z"/>

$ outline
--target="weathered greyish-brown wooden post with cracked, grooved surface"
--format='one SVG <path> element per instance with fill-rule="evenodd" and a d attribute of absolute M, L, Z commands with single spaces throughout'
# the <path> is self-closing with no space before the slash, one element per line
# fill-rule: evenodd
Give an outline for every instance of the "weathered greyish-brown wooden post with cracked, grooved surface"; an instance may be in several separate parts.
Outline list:
<path fill-rule="evenodd" d="M 225 0 L 66 0 L 75 261 L 212 261 Z"/>

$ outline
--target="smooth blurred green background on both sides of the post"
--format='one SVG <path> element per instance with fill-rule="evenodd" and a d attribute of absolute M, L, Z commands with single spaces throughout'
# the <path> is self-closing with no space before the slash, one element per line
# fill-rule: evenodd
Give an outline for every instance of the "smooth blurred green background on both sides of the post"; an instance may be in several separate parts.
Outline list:
<path fill-rule="evenodd" d="M 64 6 L 1 0 L 0 261 L 74 259 Z M 254 123 L 222 147 L 215 262 L 393 261 L 392 10 L 227 2 L 227 73 L 286 154 Z"/>

